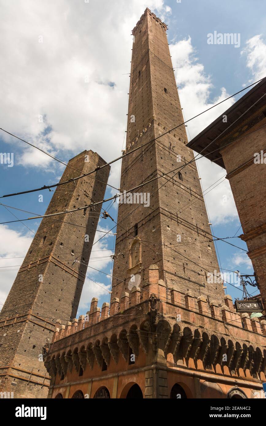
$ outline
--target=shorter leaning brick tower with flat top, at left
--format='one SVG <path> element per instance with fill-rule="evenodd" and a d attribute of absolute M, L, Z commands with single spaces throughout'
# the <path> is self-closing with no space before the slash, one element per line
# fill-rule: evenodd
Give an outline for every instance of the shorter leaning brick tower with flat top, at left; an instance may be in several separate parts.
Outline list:
<path fill-rule="evenodd" d="M 60 182 L 104 164 L 97 153 L 84 151 L 69 161 Z M 47 396 L 42 355 L 56 319 L 75 319 L 101 211 L 101 204 L 90 204 L 104 198 L 109 171 L 107 166 L 57 187 L 46 214 L 88 207 L 43 218 L 2 308 L 0 391 L 15 398 Z"/>

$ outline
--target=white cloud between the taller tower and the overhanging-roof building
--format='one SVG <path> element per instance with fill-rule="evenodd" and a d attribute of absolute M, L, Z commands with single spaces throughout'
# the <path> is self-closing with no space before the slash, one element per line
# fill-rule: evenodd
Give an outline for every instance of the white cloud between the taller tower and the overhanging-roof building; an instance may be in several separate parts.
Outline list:
<path fill-rule="evenodd" d="M 211 77 L 205 74 L 204 66 L 202 63 L 199 63 L 198 58 L 195 56 L 191 37 L 188 37 L 187 40 L 184 39 L 171 44 L 170 49 L 173 66 L 180 67 L 176 68 L 176 83 L 179 87 L 180 101 L 185 113 L 184 120 L 194 117 L 194 115 L 212 107 L 229 96 L 226 89 L 222 87 L 220 94 L 213 101 L 209 100 L 211 89 L 213 89 Z M 188 123 L 188 136 L 194 138 L 194 136 L 205 129 L 205 127 L 233 103 L 234 98 L 231 98 L 223 102 L 223 104 L 205 112 L 198 118 L 193 119 Z M 211 164 L 211 161 L 206 158 L 199 159 L 197 167 L 202 178 L 204 190 L 211 184 L 214 184 L 219 178 L 226 175 L 225 170 L 216 164 Z M 214 225 L 232 221 L 238 217 L 229 182 L 224 179 L 221 179 L 219 182 L 217 182 L 219 185 L 213 190 L 211 188 L 206 190 L 206 192 L 211 191 L 205 197 L 210 220 Z M 226 201 L 224 201 L 224 196 L 226 196 Z"/>

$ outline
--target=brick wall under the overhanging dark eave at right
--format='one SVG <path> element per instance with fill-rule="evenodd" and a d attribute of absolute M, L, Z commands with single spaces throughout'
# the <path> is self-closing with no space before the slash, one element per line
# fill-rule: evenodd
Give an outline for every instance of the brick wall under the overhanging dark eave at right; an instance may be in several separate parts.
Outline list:
<path fill-rule="evenodd" d="M 254 153 L 266 153 L 266 118 L 247 126 L 241 138 L 221 153 L 243 228 L 249 257 L 259 276 L 259 289 L 266 306 L 266 164 L 254 164 Z"/>

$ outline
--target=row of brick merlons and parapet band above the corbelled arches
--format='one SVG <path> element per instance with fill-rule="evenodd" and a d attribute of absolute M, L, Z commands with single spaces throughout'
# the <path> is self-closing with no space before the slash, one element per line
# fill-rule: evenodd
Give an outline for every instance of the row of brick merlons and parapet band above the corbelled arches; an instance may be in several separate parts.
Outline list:
<path fill-rule="evenodd" d="M 115 317 L 118 314 L 124 314 L 130 307 L 149 301 L 151 294 L 155 295 L 158 301 L 166 303 L 164 306 L 172 305 L 178 307 L 177 311 L 179 312 L 182 310 L 191 312 L 191 314 L 193 312 L 194 315 L 209 317 L 210 321 L 219 320 L 224 324 L 234 325 L 242 330 L 266 336 L 266 320 L 260 321 L 257 317 L 250 318 L 248 313 L 240 315 L 236 312 L 230 295 L 225 295 L 224 304 L 220 305 L 216 300 L 208 301 L 204 296 L 196 297 L 191 291 L 186 291 L 185 294 L 182 294 L 175 288 L 166 288 L 165 282 L 159 279 L 158 266 L 151 265 L 149 268 L 149 280 L 144 282 L 142 287 L 131 286 L 128 292 L 124 291 L 121 294 L 120 299 L 111 296 L 110 305 L 104 302 L 101 309 L 98 307 L 97 297 L 93 297 L 90 311 L 87 311 L 85 316 L 81 315 L 78 320 L 73 319 L 72 322 L 67 322 L 64 325 L 61 324 L 60 320 L 57 320 L 52 342 L 82 331 L 84 328 L 93 327 L 99 322 L 106 321 L 108 318 Z M 178 315 L 181 316 L 181 313 Z"/>

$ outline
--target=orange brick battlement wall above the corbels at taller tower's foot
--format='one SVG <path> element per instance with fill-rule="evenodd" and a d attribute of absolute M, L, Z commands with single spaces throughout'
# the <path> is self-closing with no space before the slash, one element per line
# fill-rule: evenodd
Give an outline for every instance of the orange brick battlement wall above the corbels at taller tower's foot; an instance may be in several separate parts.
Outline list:
<path fill-rule="evenodd" d="M 106 306 L 104 303 L 101 310 L 101 316 L 98 317 L 97 323 L 91 323 L 90 320 L 87 321 L 88 325 L 85 326 L 83 330 L 77 331 L 77 328 L 72 327 L 72 331 L 64 328 L 64 330 L 55 331 L 54 343 L 52 343 L 49 353 L 55 353 L 61 347 L 68 347 L 76 345 L 78 342 L 87 340 L 87 339 L 100 339 L 103 336 L 111 336 L 111 334 L 116 333 L 117 330 L 121 331 L 123 324 L 128 324 L 132 322 L 130 317 L 136 315 L 136 308 L 139 309 L 140 317 L 145 320 L 145 315 L 149 311 L 150 301 L 146 296 L 146 291 L 148 294 L 158 294 L 158 290 L 154 287 L 157 285 L 159 287 L 159 281 L 157 283 L 155 277 L 158 278 L 156 274 L 156 265 L 151 265 L 152 268 L 149 269 L 150 273 L 150 282 L 146 287 L 152 288 L 153 292 L 145 290 L 145 297 L 141 303 L 133 303 L 136 301 L 136 293 L 143 292 L 142 288 L 133 287 L 129 292 L 129 305 L 130 307 L 125 309 L 123 304 L 123 313 L 125 317 L 121 315 L 120 312 L 120 303 L 119 299 L 113 298 L 114 303 L 116 304 L 117 313 L 111 314 L 110 317 L 106 318 Z M 161 287 L 165 289 L 165 286 Z M 166 290 L 166 289 L 165 289 Z M 127 296 L 127 294 L 126 294 Z M 162 303 L 162 311 L 167 316 L 177 317 L 177 321 L 182 323 L 189 323 L 197 325 L 197 327 L 202 327 L 208 329 L 209 332 L 224 334 L 225 325 L 229 327 L 230 333 L 233 336 L 241 337 L 241 340 L 251 342 L 255 345 L 265 345 L 265 335 L 266 335 L 266 321 L 262 320 L 261 322 L 255 318 L 250 320 L 248 314 L 239 314 L 235 311 L 234 305 L 232 303 L 232 298 L 230 295 L 224 297 L 225 304 L 219 306 L 216 301 L 211 301 L 210 306 L 208 305 L 207 300 L 204 297 L 195 297 L 191 292 L 187 292 L 185 295 L 179 293 L 176 290 L 171 291 L 171 296 L 168 296 L 168 301 L 166 301 L 166 292 L 165 296 L 161 296 L 160 300 Z M 92 301 L 94 312 L 99 313 L 99 308 L 95 304 L 95 298 Z M 112 305 L 112 300 L 111 300 Z M 82 316 L 81 316 L 82 317 Z M 80 317 L 80 319 L 81 319 Z M 79 320 L 80 321 L 80 320 Z M 70 327 L 70 328 L 71 328 Z M 61 342 L 60 342 L 61 341 Z"/>

